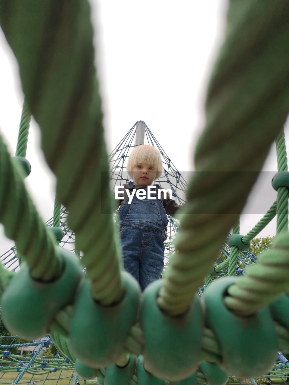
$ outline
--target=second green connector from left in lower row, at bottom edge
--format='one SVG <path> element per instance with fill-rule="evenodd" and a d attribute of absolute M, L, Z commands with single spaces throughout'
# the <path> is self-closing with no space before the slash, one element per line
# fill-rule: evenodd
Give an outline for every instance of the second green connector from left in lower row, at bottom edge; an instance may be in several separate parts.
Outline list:
<path fill-rule="evenodd" d="M 123 368 L 111 365 L 105 370 L 104 385 L 127 385 L 134 375 L 136 356 L 130 355 L 128 365 Z"/>

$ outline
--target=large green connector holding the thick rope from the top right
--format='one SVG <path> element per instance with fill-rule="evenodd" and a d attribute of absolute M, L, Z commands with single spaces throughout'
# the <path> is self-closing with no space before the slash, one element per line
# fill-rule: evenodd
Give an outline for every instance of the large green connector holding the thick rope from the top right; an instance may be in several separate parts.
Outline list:
<path fill-rule="evenodd" d="M 155 377 L 183 380 L 198 365 L 202 345 L 203 314 L 198 296 L 188 311 L 170 317 L 156 303 L 162 280 L 151 283 L 143 295 L 141 325 L 144 335 L 144 366 Z"/>

